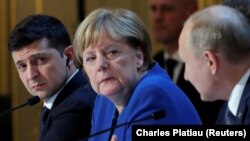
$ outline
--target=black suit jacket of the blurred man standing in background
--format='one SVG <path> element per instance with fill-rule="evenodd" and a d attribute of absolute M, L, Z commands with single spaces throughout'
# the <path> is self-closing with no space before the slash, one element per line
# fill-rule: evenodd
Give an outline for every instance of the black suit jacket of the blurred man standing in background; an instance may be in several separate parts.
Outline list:
<path fill-rule="evenodd" d="M 154 56 L 154 60 L 164 68 L 164 52 L 160 51 Z M 185 66 L 182 64 L 181 72 L 178 77 L 176 84 L 184 91 L 189 97 L 191 102 L 194 104 L 197 112 L 200 115 L 202 123 L 204 125 L 214 125 L 218 116 L 222 101 L 216 102 L 203 102 L 200 99 L 200 94 L 194 88 L 194 86 L 184 79 Z"/>

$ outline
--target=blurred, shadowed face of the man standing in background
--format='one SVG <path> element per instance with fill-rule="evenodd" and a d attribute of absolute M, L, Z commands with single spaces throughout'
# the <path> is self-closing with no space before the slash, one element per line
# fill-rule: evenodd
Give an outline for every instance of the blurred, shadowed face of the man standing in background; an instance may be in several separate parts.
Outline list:
<path fill-rule="evenodd" d="M 157 41 L 178 42 L 183 23 L 190 14 L 190 6 L 187 6 L 184 1 L 152 0 L 151 21 Z"/>

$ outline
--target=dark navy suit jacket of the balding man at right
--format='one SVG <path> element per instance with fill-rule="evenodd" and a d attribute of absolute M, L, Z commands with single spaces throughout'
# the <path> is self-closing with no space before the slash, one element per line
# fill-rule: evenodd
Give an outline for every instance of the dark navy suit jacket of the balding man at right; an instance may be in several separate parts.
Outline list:
<path fill-rule="evenodd" d="M 227 102 L 224 103 L 223 107 L 221 108 L 220 114 L 216 121 L 217 124 L 225 124 L 225 111 L 227 109 Z M 234 118 L 234 123 L 236 125 L 243 125 L 247 124 L 250 125 L 250 77 L 246 83 L 244 88 L 243 94 L 240 99 L 240 104 L 238 107 L 237 115 Z"/>

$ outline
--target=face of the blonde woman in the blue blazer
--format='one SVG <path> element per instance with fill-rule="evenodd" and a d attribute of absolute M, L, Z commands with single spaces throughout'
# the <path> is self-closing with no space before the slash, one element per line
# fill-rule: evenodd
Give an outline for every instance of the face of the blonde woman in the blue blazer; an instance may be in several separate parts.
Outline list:
<path fill-rule="evenodd" d="M 129 97 L 139 80 L 143 53 L 124 41 L 103 33 L 96 44 L 82 52 L 83 68 L 93 89 L 100 95 L 121 100 Z"/>

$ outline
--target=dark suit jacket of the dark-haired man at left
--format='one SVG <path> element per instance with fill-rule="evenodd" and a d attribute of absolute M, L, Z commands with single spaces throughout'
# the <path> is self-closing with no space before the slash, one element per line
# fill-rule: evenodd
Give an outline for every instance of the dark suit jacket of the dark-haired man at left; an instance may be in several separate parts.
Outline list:
<path fill-rule="evenodd" d="M 82 72 L 57 96 L 45 123 L 43 141 L 76 141 L 89 135 L 95 93 Z"/>

